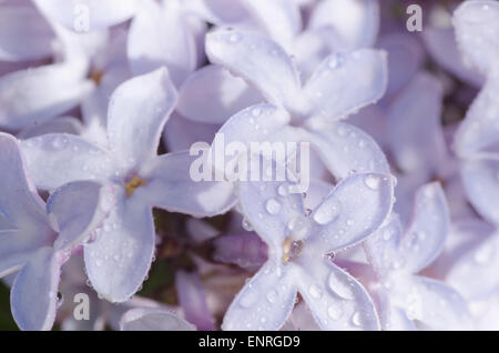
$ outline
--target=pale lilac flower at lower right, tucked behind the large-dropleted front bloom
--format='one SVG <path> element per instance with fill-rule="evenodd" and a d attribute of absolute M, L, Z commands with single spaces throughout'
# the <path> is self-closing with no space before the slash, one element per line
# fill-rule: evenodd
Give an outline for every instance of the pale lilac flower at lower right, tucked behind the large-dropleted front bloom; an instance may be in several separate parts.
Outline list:
<path fill-rule="evenodd" d="M 419 275 L 442 250 L 449 215 L 438 183 L 418 189 L 410 224 L 397 215 L 364 243 L 380 285 L 375 288 L 386 330 L 415 330 L 416 322 L 436 330 L 466 323 L 467 304 L 450 286 Z"/>

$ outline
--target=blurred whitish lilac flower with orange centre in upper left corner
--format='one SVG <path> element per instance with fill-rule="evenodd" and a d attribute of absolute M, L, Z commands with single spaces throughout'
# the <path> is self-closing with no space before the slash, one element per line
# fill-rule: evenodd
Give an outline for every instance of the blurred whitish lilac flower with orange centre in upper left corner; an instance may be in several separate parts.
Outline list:
<path fill-rule="evenodd" d="M 0 125 L 9 130 L 33 128 L 83 103 L 85 125 L 92 128 L 89 127 L 95 120 L 92 115 L 100 113 L 98 108 L 104 104 L 103 97 L 106 103 L 111 89 L 126 77 L 123 63 L 115 58 L 112 61 L 104 50 L 108 32 L 70 32 L 57 24 L 51 16 L 44 13 L 45 18 L 42 18 L 30 3 L 2 10 L 19 12 L 19 21 L 24 16 L 33 17 L 38 27 L 48 28 L 50 42 L 41 41 L 40 44 L 47 46 L 44 58 L 52 59 L 53 63 L 29 67 L 0 79 Z M 22 31 L 14 40 L 30 42 L 33 40 L 30 36 L 33 33 Z M 0 41 L 0 48 L 7 47 L 0 50 L 9 50 L 8 44 Z"/>

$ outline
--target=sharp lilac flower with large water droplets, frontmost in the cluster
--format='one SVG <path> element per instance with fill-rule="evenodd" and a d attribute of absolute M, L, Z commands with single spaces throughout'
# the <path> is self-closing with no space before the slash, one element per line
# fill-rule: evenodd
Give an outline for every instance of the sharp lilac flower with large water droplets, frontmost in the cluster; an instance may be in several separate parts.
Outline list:
<path fill-rule="evenodd" d="M 268 260 L 236 295 L 222 327 L 277 330 L 299 291 L 322 329 L 377 330 L 370 297 L 330 259 L 385 221 L 391 210 L 390 178 L 368 173 L 347 178 L 309 216 L 302 195 L 285 191 L 289 186 L 289 182 L 237 184 L 242 212 L 267 243 Z"/>

